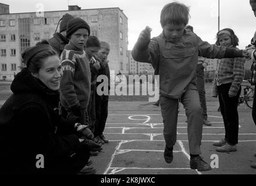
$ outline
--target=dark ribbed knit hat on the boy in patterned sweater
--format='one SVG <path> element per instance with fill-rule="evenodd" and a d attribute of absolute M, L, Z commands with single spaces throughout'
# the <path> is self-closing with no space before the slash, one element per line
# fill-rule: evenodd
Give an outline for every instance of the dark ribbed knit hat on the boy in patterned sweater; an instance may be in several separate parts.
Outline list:
<path fill-rule="evenodd" d="M 88 35 L 90 35 L 90 26 L 79 17 L 74 19 L 70 19 L 67 23 L 66 37 L 70 38 L 70 36 L 79 28 L 86 28 L 88 30 Z"/>

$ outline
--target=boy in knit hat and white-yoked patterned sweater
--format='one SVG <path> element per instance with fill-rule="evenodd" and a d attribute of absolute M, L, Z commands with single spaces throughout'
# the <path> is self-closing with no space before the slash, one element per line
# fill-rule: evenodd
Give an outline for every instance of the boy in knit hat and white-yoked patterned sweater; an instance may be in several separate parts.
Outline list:
<path fill-rule="evenodd" d="M 91 92 L 91 71 L 84 51 L 89 35 L 90 26 L 83 19 L 70 19 L 66 30 L 69 44 L 61 55 L 61 105 L 65 108 L 67 117 L 78 116 L 82 124 L 86 124 L 86 110 Z"/>

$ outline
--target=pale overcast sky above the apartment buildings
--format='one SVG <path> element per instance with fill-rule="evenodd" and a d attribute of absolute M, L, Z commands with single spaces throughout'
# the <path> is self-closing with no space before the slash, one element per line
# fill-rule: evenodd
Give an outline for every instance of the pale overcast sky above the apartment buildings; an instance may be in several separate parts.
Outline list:
<path fill-rule="evenodd" d="M 81 9 L 119 7 L 128 17 L 129 49 L 137 41 L 145 26 L 152 28 L 151 37 L 162 32 L 160 13 L 167 0 L 1 0 L 10 5 L 10 13 L 35 12 L 37 3 L 44 4 L 45 11 L 67 10 L 67 5 L 78 5 Z M 218 31 L 218 0 L 180 0 L 190 6 L 189 24 L 204 41 L 215 43 Z M 253 15 L 249 0 L 220 0 L 220 28 L 232 28 L 240 40 L 242 49 L 250 43 L 256 31 L 256 17 Z"/>

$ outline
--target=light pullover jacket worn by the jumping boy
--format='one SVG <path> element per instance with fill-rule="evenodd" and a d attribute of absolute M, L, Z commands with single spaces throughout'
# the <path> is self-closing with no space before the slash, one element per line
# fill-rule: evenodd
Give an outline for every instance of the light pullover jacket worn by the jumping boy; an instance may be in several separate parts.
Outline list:
<path fill-rule="evenodd" d="M 151 63 L 159 74 L 160 94 L 179 99 L 189 83 L 196 84 L 195 70 L 198 56 L 204 58 L 242 57 L 243 51 L 211 45 L 191 32 L 184 31 L 182 38 L 173 43 L 163 34 L 150 40 L 148 47 L 141 49 L 136 42 L 132 56 L 137 62 Z"/>

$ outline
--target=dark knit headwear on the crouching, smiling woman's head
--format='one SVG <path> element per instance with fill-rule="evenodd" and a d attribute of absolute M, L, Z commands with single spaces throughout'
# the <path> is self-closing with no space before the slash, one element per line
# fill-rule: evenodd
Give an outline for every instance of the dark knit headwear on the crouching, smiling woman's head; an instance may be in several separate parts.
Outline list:
<path fill-rule="evenodd" d="M 45 50 L 53 50 L 47 41 L 38 42 L 38 44 L 34 47 L 25 49 L 25 51 L 22 53 L 23 63 L 25 63 L 26 66 L 29 66 L 30 59 L 32 59 L 37 53 Z"/>

